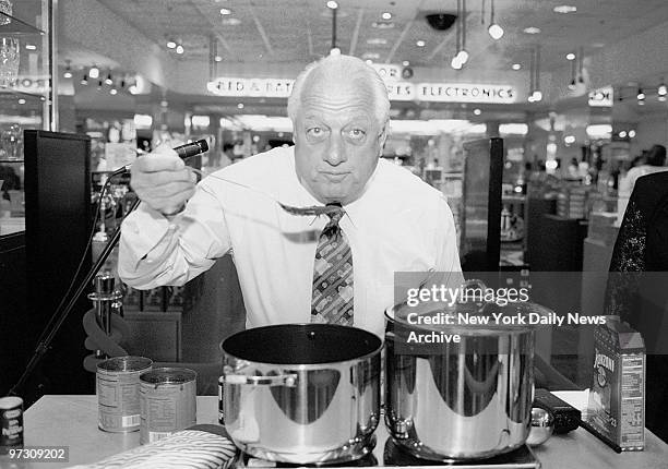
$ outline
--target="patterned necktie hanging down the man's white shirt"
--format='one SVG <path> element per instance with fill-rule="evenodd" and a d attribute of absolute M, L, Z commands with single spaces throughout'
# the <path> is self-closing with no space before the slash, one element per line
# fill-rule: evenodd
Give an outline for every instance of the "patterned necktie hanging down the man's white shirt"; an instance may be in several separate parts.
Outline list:
<path fill-rule="evenodd" d="M 313 266 L 311 322 L 353 325 L 353 252 L 338 226 L 345 214 L 329 213 L 330 223 L 320 234 Z"/>

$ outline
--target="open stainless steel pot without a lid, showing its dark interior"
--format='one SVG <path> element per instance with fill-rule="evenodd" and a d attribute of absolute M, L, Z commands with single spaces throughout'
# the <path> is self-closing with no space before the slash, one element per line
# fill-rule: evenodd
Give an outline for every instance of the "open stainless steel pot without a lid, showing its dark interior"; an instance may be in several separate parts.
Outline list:
<path fill-rule="evenodd" d="M 285 324 L 226 339 L 223 412 L 251 456 L 312 464 L 373 448 L 382 340 L 355 327 Z"/>

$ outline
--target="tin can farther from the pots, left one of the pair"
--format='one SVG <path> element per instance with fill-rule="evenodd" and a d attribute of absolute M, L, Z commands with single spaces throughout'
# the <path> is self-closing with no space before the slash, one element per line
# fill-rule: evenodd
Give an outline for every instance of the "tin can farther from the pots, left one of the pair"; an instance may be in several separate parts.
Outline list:
<path fill-rule="evenodd" d="M 144 357 L 115 357 L 97 364 L 97 425 L 105 432 L 140 429 L 140 375 L 153 365 Z"/>

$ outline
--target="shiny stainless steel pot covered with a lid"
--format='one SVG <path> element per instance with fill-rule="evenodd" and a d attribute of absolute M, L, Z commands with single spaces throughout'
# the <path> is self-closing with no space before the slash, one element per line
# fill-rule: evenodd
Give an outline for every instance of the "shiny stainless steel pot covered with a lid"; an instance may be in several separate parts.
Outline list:
<path fill-rule="evenodd" d="M 385 423 L 394 441 L 432 460 L 486 458 L 523 445 L 534 400 L 535 326 L 416 325 L 415 316 L 408 321 L 410 311 L 404 304 L 385 314 Z M 420 315 L 436 312 L 527 317 L 548 310 L 529 303 L 455 304 Z M 408 342 L 410 333 L 431 332 L 458 334 L 461 341 L 416 344 L 414 335 Z"/>

